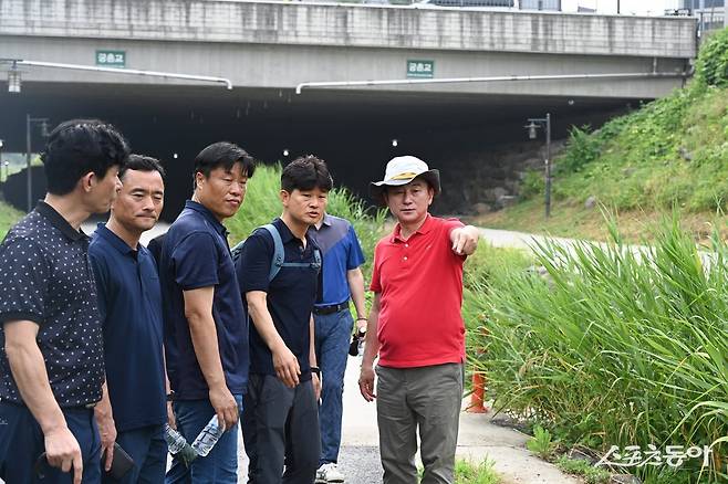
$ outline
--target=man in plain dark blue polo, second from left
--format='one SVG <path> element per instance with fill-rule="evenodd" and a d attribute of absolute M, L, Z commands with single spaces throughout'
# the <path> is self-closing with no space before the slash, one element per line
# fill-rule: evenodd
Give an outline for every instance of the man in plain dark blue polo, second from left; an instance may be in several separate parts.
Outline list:
<path fill-rule="evenodd" d="M 162 292 L 156 262 L 139 243 L 159 219 L 163 173 L 156 159 L 129 156 L 118 173 L 122 189 L 111 218 L 98 224 L 89 246 L 106 364 L 104 393 L 94 412 L 105 470 L 111 469 L 114 441 L 134 460 L 122 480 L 127 484 L 163 482 L 167 467 Z M 104 481 L 115 482 L 107 475 Z"/>

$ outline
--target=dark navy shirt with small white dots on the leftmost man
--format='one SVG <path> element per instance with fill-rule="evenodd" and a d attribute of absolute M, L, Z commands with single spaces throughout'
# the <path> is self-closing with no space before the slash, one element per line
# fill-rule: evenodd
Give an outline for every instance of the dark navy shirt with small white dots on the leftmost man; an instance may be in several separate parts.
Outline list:
<path fill-rule="evenodd" d="M 39 202 L 0 245 L 0 399 L 22 403 L 4 353 L 8 322 L 39 326 L 38 346 L 61 408 L 101 400 L 102 323 L 89 238 Z"/>

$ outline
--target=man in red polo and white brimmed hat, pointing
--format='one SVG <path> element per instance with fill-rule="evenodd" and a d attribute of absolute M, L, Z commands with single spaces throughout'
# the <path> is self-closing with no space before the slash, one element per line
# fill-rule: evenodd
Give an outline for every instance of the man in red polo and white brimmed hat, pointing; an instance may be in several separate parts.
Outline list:
<path fill-rule="evenodd" d="M 377 400 L 385 484 L 417 483 L 417 428 L 422 483 L 454 481 L 465 361 L 462 263 L 479 232 L 428 213 L 439 191 L 438 170 L 414 156 L 392 159 L 384 180 L 371 186 L 398 222 L 374 252 L 374 303 L 358 380 L 362 396 Z"/>

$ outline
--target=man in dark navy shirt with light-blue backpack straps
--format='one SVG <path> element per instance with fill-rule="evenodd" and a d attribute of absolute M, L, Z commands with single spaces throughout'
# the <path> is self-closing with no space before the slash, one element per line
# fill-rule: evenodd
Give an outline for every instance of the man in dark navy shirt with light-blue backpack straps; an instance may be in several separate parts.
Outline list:
<path fill-rule="evenodd" d="M 320 267 L 319 249 L 308 230 L 323 215 L 331 187 L 326 165 L 319 158 L 302 157 L 288 165 L 281 175 L 283 214 L 272 223 L 283 243 L 283 266 L 269 281 L 274 240 L 259 229 L 246 240 L 236 267 L 253 323 L 242 414 L 249 483 L 309 484 L 319 466 L 321 386 L 311 311 Z"/>

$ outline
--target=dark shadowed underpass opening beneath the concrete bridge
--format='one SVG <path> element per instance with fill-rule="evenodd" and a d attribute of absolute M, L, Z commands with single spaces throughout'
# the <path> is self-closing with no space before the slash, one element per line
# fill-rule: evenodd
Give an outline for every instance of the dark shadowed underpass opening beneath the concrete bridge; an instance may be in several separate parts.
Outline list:
<path fill-rule="evenodd" d="M 20 94 L 0 93 L 0 139 L 6 152 L 24 152 L 27 114 L 50 118 L 51 126 L 79 117 L 111 122 L 134 152 L 163 161 L 167 171 L 163 218 L 174 220 L 191 192 L 193 160 L 210 143 L 235 141 L 262 162 L 285 164 L 314 154 L 326 160 L 335 185 L 366 199 L 368 181 L 381 179 L 394 156 L 420 157 L 441 170 L 444 186 L 453 187 L 468 176 L 455 168 L 464 157 L 505 145 L 544 143 L 543 133 L 538 141 L 528 140 L 523 125 L 529 117 L 551 113 L 557 140 L 565 138 L 572 125 L 597 127 L 638 103 L 433 94 L 416 88 L 407 93 L 304 90 L 297 95 L 293 90 L 29 82 Z M 32 144 L 32 151 L 43 146 L 37 129 Z M 41 179 L 35 171 L 34 178 Z M 25 206 L 23 176 L 11 177 L 3 190 L 19 208 Z M 34 190 L 42 197 L 43 187 Z M 435 212 L 451 210 L 434 206 Z"/>

